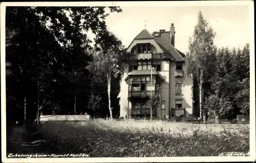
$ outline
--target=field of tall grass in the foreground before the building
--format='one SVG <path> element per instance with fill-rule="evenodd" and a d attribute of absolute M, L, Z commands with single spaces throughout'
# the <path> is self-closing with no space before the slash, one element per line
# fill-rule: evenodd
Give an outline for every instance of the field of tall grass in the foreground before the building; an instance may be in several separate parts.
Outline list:
<path fill-rule="evenodd" d="M 160 121 L 49 122 L 40 130 L 56 153 L 91 157 L 218 156 L 249 151 L 249 127 Z"/>

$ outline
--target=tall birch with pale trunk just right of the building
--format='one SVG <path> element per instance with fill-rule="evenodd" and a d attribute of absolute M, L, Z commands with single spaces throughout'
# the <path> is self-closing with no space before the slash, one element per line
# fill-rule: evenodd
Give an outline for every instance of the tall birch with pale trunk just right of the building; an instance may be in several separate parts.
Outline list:
<path fill-rule="evenodd" d="M 195 26 L 193 36 L 189 38 L 188 53 L 186 55 L 186 74 L 192 74 L 199 84 L 200 118 L 204 111 L 204 82 L 209 80 L 209 71 L 214 66 L 216 46 L 214 38 L 216 33 L 203 18 L 202 12 L 198 14 L 198 24 Z M 211 72 L 212 74 L 212 72 Z"/>

